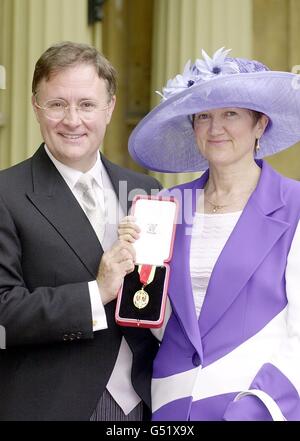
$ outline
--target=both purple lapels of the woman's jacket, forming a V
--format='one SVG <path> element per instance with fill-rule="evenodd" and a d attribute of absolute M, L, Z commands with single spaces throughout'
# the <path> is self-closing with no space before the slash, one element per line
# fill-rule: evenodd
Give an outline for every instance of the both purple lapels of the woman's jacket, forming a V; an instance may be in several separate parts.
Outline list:
<path fill-rule="evenodd" d="M 189 266 L 192 222 L 186 222 L 182 213 L 189 211 L 187 207 L 184 208 L 188 205 L 194 215 L 196 190 L 204 188 L 208 172 L 199 180 L 181 187 L 181 194 L 185 195 L 182 196 L 170 264 L 169 296 L 185 334 L 200 353 L 201 339 L 230 308 L 257 267 L 289 228 L 287 222 L 272 216 L 284 206 L 281 177 L 267 163 L 259 161 L 259 165 L 262 167 L 259 183 L 214 266 L 199 323 Z"/>

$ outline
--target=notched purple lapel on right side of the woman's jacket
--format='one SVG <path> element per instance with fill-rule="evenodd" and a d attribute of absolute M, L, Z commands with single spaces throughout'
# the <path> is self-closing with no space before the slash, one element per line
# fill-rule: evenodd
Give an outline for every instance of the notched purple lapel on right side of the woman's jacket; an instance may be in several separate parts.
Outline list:
<path fill-rule="evenodd" d="M 202 338 L 221 319 L 256 268 L 289 228 L 287 222 L 270 217 L 284 205 L 281 177 L 262 162 L 257 188 L 213 269 L 199 318 Z"/>

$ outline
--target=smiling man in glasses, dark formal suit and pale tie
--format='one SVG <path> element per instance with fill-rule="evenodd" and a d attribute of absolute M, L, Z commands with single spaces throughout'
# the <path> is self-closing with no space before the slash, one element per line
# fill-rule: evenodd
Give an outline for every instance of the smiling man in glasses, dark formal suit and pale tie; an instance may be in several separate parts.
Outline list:
<path fill-rule="evenodd" d="M 117 226 L 130 206 L 121 193 L 160 186 L 99 154 L 115 88 L 113 67 L 87 45 L 54 45 L 36 64 L 32 104 L 44 143 L 0 172 L 0 420 L 149 415 L 157 344 L 149 330 L 115 323 L 134 266 Z M 78 185 L 87 175 L 100 231 Z"/>

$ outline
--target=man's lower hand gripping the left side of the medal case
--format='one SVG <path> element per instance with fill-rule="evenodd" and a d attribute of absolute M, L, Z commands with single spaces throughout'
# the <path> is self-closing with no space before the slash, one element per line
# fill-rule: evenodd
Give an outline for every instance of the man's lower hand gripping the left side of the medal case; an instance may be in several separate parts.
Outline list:
<path fill-rule="evenodd" d="M 97 283 L 103 305 L 117 297 L 123 278 L 134 270 L 135 250 L 125 241 L 117 241 L 101 259 Z"/>

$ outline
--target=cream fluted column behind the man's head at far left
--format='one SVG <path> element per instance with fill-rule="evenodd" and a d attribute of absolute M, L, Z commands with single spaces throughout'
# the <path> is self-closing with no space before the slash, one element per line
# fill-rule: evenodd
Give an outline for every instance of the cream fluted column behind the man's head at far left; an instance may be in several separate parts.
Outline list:
<path fill-rule="evenodd" d="M 0 0 L 0 64 L 7 70 L 1 168 L 31 156 L 42 141 L 31 108 L 32 74 L 41 53 L 62 40 L 93 43 L 86 0 Z"/>

